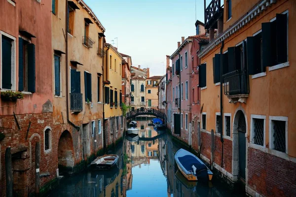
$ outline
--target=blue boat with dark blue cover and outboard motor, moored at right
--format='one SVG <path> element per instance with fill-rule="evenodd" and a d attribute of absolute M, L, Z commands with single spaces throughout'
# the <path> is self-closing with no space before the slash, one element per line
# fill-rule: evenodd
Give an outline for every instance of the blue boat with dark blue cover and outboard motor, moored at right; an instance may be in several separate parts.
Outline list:
<path fill-rule="evenodd" d="M 175 161 L 188 181 L 212 180 L 213 172 L 192 153 L 181 148 L 175 154 Z"/>

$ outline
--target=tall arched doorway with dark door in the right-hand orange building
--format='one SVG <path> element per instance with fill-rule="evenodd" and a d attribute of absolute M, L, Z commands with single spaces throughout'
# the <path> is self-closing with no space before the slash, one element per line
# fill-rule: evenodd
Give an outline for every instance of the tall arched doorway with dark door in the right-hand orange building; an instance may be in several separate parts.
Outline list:
<path fill-rule="evenodd" d="M 238 110 L 233 122 L 233 175 L 238 180 L 246 180 L 246 118 L 242 110 Z"/>

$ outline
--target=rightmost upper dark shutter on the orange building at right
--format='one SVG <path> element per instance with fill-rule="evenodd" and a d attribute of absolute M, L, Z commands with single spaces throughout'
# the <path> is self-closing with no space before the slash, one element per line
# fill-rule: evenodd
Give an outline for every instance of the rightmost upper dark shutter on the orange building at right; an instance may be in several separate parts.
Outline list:
<path fill-rule="evenodd" d="M 287 14 L 276 14 L 276 52 L 278 64 L 288 62 L 287 42 Z"/>

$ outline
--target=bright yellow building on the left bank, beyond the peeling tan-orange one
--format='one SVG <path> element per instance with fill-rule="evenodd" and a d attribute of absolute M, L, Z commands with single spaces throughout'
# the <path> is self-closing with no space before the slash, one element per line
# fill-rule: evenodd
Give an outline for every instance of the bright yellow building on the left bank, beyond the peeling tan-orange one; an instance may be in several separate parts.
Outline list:
<path fill-rule="evenodd" d="M 108 43 L 105 44 L 104 51 L 104 131 L 105 140 L 111 144 L 122 136 L 124 129 L 121 110 L 123 57 L 117 48 Z"/>

